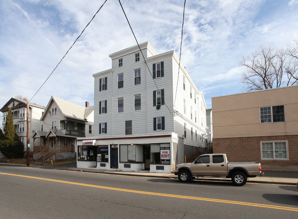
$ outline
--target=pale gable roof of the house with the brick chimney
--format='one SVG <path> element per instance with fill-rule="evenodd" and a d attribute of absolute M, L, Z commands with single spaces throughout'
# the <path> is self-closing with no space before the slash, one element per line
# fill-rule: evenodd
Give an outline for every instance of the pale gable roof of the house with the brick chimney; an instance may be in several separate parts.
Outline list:
<path fill-rule="evenodd" d="M 47 111 L 51 111 L 50 107 L 52 102 L 56 103 L 58 109 L 60 110 L 60 112 L 62 113 L 62 115 L 66 118 L 71 118 L 71 119 L 76 119 L 76 120 L 83 120 L 83 121 L 87 121 L 87 117 L 93 112 L 94 110 L 94 106 L 89 106 L 89 107 L 85 107 L 85 106 L 80 106 L 78 104 L 75 103 L 71 103 L 69 101 L 60 99 L 58 97 L 51 97 L 49 103 L 47 104 L 47 107 L 45 109 L 45 112 Z M 46 113 L 44 113 L 40 120 L 44 119 L 44 116 L 46 115 Z"/>

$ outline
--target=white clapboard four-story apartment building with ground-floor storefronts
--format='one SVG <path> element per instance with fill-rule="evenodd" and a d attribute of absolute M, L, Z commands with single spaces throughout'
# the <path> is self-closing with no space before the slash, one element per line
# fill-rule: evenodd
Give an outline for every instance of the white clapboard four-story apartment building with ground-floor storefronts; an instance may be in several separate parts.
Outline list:
<path fill-rule="evenodd" d="M 109 57 L 93 74 L 94 137 L 77 138 L 77 167 L 172 172 L 205 149 L 204 96 L 174 51 L 146 42 Z"/>

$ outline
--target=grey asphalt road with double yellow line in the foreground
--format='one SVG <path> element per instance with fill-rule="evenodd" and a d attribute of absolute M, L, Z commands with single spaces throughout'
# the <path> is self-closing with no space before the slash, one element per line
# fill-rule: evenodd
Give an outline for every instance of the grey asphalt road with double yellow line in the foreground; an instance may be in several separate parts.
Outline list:
<path fill-rule="evenodd" d="M 297 218 L 296 186 L 0 166 L 0 218 Z"/>

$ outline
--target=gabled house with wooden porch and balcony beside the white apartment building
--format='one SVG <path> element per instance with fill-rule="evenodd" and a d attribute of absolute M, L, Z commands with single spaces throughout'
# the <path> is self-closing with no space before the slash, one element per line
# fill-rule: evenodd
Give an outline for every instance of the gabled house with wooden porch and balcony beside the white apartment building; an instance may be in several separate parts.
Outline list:
<path fill-rule="evenodd" d="M 31 136 L 34 158 L 43 162 L 75 158 L 77 137 L 93 136 L 94 106 L 80 106 L 51 97 L 40 118 L 43 126 Z"/>

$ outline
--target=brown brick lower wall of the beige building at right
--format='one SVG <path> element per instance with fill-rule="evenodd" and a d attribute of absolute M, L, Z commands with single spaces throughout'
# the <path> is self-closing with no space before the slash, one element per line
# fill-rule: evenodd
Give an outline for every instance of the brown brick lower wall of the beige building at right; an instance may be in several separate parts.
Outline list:
<path fill-rule="evenodd" d="M 289 160 L 261 160 L 261 141 L 288 141 Z M 214 138 L 213 152 L 225 153 L 229 162 L 260 162 L 262 167 L 288 170 L 287 166 L 298 167 L 298 135 Z"/>

